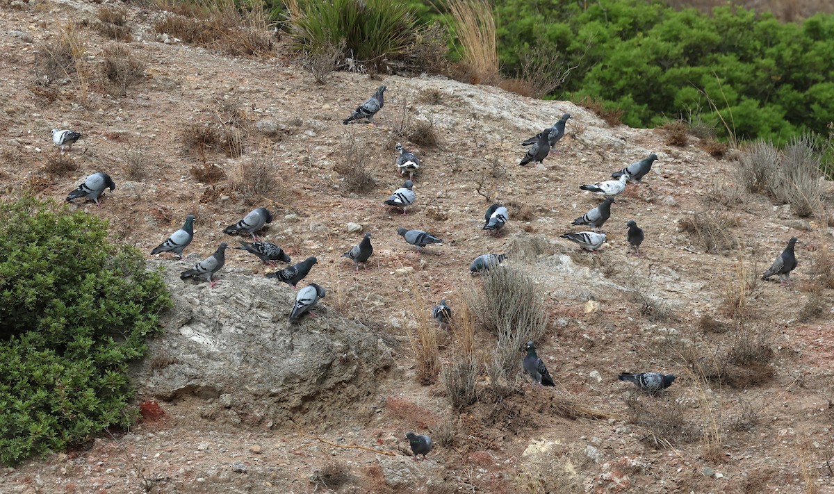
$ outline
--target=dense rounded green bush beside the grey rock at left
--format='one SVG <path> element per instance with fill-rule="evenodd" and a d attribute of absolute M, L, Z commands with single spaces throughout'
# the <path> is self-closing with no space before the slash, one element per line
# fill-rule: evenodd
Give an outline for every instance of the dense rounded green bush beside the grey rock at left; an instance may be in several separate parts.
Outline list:
<path fill-rule="evenodd" d="M 130 360 L 170 305 L 107 222 L 31 197 L 0 205 L 0 462 L 127 426 Z"/>

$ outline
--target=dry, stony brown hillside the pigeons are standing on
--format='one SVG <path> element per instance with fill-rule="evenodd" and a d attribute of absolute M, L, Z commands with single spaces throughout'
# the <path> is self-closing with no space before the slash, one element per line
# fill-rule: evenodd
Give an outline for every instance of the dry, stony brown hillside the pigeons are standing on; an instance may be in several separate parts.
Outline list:
<path fill-rule="evenodd" d="M 834 292 L 816 278 L 831 259 L 831 229 L 745 192 L 731 158 L 713 158 L 695 137 L 666 144 L 664 131 L 612 128 L 573 103 L 447 78 L 340 72 L 317 85 L 284 54 L 234 57 L 158 36 L 152 26 L 165 14 L 148 8 L 129 9 L 124 43 L 147 63 L 145 77 L 116 96 L 101 72 L 115 42 L 96 28 L 97 8 L 73 0 L 0 8 L 0 195 L 31 188 L 63 201 L 106 171 L 117 188 L 101 207 L 70 207 L 108 219 L 113 239 L 146 252 L 186 214 L 197 216 L 185 260 L 148 255 L 176 307 L 133 374 L 138 403 L 153 411 L 147 402 L 156 401 L 164 416 L 3 468 L 0 491 L 834 492 Z M 40 86 L 39 43 L 53 43 L 70 20 L 82 23 L 88 86 L 78 78 Z M 376 127 L 344 126 L 380 84 L 389 90 Z M 543 169 L 517 166 L 520 142 L 562 113 L 572 118 Z M 193 144 L 218 118 L 239 122 L 239 157 Z M 53 128 L 83 134 L 65 161 Z M 382 204 L 403 180 L 398 142 L 423 159 L 405 215 Z M 652 152 L 659 159 L 617 199 L 598 254 L 559 238 L 600 202 L 580 184 Z M 213 164 L 224 178 L 192 174 Z M 252 164 L 273 169 L 278 184 L 247 204 L 232 184 Z M 359 164 L 375 184 L 350 192 L 343 174 Z M 495 201 L 510 210 L 499 236 L 481 229 Z M 289 326 L 295 292 L 266 280 L 272 269 L 241 250 L 227 252 L 218 288 L 178 280 L 220 242 L 237 244 L 222 230 L 259 205 L 274 215 L 266 239 L 294 262 L 318 258 L 301 284 L 327 290 L 318 318 Z M 720 226 L 717 254 L 686 231 L 705 218 Z M 628 255 L 629 219 L 646 231 L 640 257 Z M 373 235 L 368 270 L 339 257 L 362 238 L 351 222 Z M 445 242 L 418 253 L 400 226 Z M 757 279 L 791 236 L 801 241 L 796 285 L 760 280 L 741 297 L 746 310 L 729 308 L 736 286 Z M 496 405 L 481 373 L 479 401 L 458 413 L 440 379 L 418 382 L 409 334 L 441 298 L 462 312 L 480 286 L 470 262 L 487 252 L 509 255 L 506 267 L 530 275 L 544 296 L 550 323 L 537 347 L 556 386 L 531 386 L 519 373 Z M 488 352 L 495 337 L 475 331 Z M 701 379 L 745 337 L 766 358 L 733 364 L 722 385 Z M 439 340 L 442 365 L 460 360 L 454 334 L 440 331 Z M 643 370 L 678 379 L 656 398 L 616 379 Z M 409 459 L 407 431 L 433 436 L 428 459 Z"/>

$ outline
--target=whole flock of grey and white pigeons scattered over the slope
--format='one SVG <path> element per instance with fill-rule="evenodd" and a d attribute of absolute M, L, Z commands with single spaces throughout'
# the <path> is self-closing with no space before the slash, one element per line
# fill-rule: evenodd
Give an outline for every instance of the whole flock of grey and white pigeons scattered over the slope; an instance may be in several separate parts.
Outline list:
<path fill-rule="evenodd" d="M 384 106 L 384 93 L 387 87 L 382 85 L 377 88 L 373 96 L 367 101 L 359 105 L 348 118 L 344 119 L 344 124 L 351 122 L 366 121 L 369 125 L 374 125 L 374 115 L 379 112 Z M 530 146 L 526 151 L 524 157 L 520 160 L 520 165 L 529 163 L 542 164 L 547 158 L 553 147 L 565 135 L 565 123 L 570 119 L 570 113 L 565 113 L 549 129 L 542 130 L 530 139 L 526 139 L 521 144 Z M 63 152 L 64 147 L 72 149 L 72 145 L 82 137 L 81 134 L 73 132 L 72 130 L 58 130 L 53 129 L 53 142 Z M 405 180 L 402 187 L 396 189 L 389 199 L 386 199 L 383 204 L 392 206 L 397 209 L 402 209 L 403 214 L 406 214 L 406 209 L 414 204 L 416 194 L 414 194 L 414 174 L 420 169 L 420 159 L 414 154 L 404 149 L 402 144 L 396 144 L 395 149 L 399 153 L 395 164 L 400 176 L 408 174 L 409 178 Z M 605 199 L 603 202 L 587 213 L 573 221 L 573 225 L 588 226 L 593 231 L 581 232 L 567 232 L 560 235 L 560 238 L 568 239 L 575 244 L 580 245 L 581 250 L 588 250 L 596 252 L 605 242 L 605 234 L 602 233 L 602 226 L 610 218 L 611 204 L 615 203 L 615 197 L 625 190 L 627 182 L 641 184 L 643 177 L 651 171 L 652 164 L 656 161 L 657 155 L 650 154 L 646 159 L 641 159 L 636 163 L 630 164 L 625 169 L 616 171 L 611 174 L 611 180 L 599 182 L 596 184 L 581 185 L 580 189 L 587 190 L 594 194 L 599 194 Z M 92 199 L 98 206 L 101 206 L 99 199 L 105 189 L 115 190 L 116 184 L 113 182 L 108 174 L 96 173 L 90 175 L 84 180 L 83 184 L 78 186 L 78 189 L 73 190 L 67 196 L 67 200 L 71 201 L 80 197 Z M 492 204 L 486 210 L 484 215 L 483 229 L 491 232 L 499 232 L 509 219 L 509 212 L 503 204 Z M 191 243 L 193 239 L 193 222 L 195 217 L 193 214 L 188 214 L 185 218 L 185 223 L 181 229 L 171 234 L 171 236 L 159 244 L 158 247 L 151 251 L 152 255 L 163 252 L 172 252 L 183 259 L 183 250 Z M 281 261 L 289 264 L 291 259 L 289 255 L 284 253 L 278 245 L 262 241 L 258 238 L 257 232 L 264 227 L 265 224 L 272 222 L 272 214 L 268 209 L 257 208 L 247 214 L 236 224 L 229 225 L 224 229 L 226 234 L 250 234 L 254 242 L 240 241 L 241 246 L 235 249 L 245 250 L 253 255 L 259 257 L 260 260 L 269 265 L 275 265 L 276 261 Z M 626 223 L 628 227 L 627 239 L 629 243 L 629 253 L 634 251 L 634 254 L 640 255 L 640 246 L 646 235 L 643 230 L 637 226 L 636 222 L 631 219 Z M 418 250 L 430 244 L 442 244 L 443 240 L 421 229 L 397 229 L 397 234 L 403 237 L 405 242 L 414 245 Z M 363 265 L 367 269 L 367 262 L 374 253 L 374 247 L 370 243 L 371 234 L 364 234 L 364 238 L 359 244 L 345 252 L 342 257 L 347 257 L 354 261 L 354 267 L 359 270 L 359 265 Z M 784 252 L 773 262 L 771 268 L 765 272 L 762 279 L 766 280 L 773 275 L 779 275 L 781 285 L 790 285 L 791 271 L 796 269 L 796 257 L 794 255 L 794 245 L 796 244 L 796 237 L 791 238 Z M 225 263 L 225 250 L 229 244 L 223 242 L 213 255 L 198 262 L 190 270 L 185 270 L 181 273 L 180 278 L 183 280 L 189 277 L 204 278 L 208 280 L 209 284 L 214 288 L 216 281 L 214 274 L 216 274 Z M 479 255 L 470 265 L 470 273 L 480 273 L 490 270 L 506 259 L 503 254 L 485 254 Z M 308 257 L 304 261 L 278 270 L 274 273 L 266 275 L 268 278 L 282 281 L 293 289 L 296 285 L 309 274 L 309 271 L 317 264 L 318 260 L 315 257 Z M 299 290 L 296 296 L 295 305 L 289 315 L 289 320 L 298 320 L 304 313 L 309 312 L 318 303 L 320 299 L 325 296 L 325 290 L 321 286 L 311 283 Z M 442 328 L 444 325 L 449 325 L 452 317 L 452 310 L 446 303 L 446 300 L 440 300 L 440 305 L 432 309 L 432 316 L 437 320 Z M 553 378 L 550 376 L 545 363 L 536 355 L 535 344 L 529 341 L 526 345 L 527 355 L 522 360 L 522 366 L 527 374 L 529 374 L 534 383 L 540 386 L 555 386 Z M 665 390 L 671 386 L 675 381 L 675 376 L 668 374 L 664 375 L 659 372 L 643 372 L 639 374 L 622 373 L 618 376 L 620 381 L 631 381 L 636 384 L 642 391 L 646 391 L 652 395 Z M 409 432 L 406 435 L 409 440 L 412 451 L 414 452 L 414 459 L 420 454 L 425 458 L 425 455 L 431 451 L 432 443 L 429 436 L 419 436 L 414 432 Z"/>

